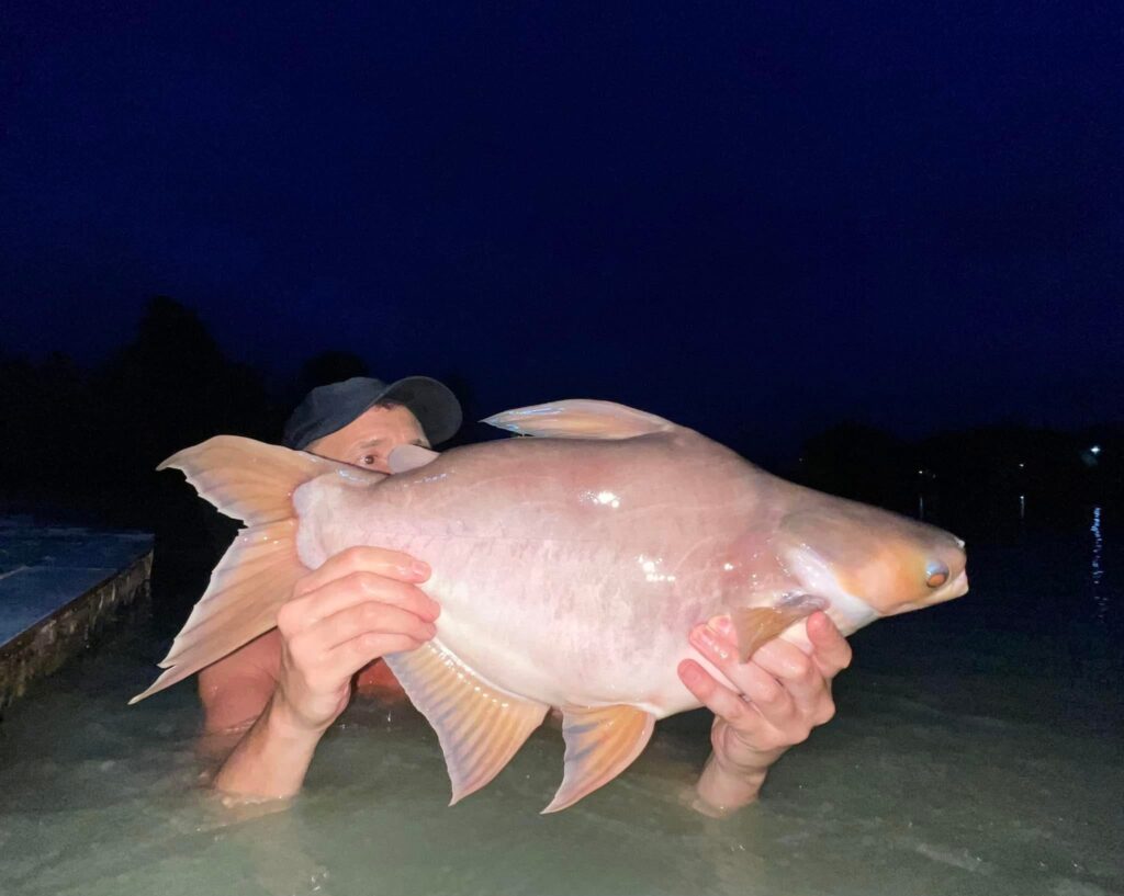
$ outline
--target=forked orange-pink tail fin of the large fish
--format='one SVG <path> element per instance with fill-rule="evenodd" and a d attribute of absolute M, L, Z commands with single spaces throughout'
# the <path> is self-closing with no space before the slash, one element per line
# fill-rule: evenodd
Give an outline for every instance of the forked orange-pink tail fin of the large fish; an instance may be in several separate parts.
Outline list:
<path fill-rule="evenodd" d="M 185 448 L 157 469 L 169 467 L 182 470 L 201 497 L 247 525 L 215 567 L 207 591 L 160 664 L 164 673 L 129 703 L 187 678 L 277 624 L 278 610 L 308 572 L 297 554 L 293 492 L 317 476 L 347 468 L 237 436 L 216 436 Z"/>

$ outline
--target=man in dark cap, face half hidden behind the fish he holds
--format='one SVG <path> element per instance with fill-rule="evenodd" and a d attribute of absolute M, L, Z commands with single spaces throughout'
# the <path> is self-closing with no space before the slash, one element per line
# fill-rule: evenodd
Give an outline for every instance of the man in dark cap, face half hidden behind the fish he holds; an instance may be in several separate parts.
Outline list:
<path fill-rule="evenodd" d="M 434 380 L 387 385 L 355 377 L 312 390 L 290 418 L 284 444 L 386 474 L 395 449 L 399 466 L 404 457 L 406 469 L 424 465 L 428 447 L 460 423 L 456 399 Z M 390 548 L 334 554 L 291 586 L 277 628 L 203 668 L 207 731 L 244 732 L 215 787 L 245 798 L 296 794 L 356 674 L 361 692 L 398 688 L 381 658 L 434 638 L 441 607 L 424 591 L 429 576 L 423 560 Z M 744 662 L 729 616 L 690 630 L 689 644 L 724 677 L 690 657 L 677 667 L 682 685 L 715 713 L 699 811 L 722 814 L 752 802 L 769 767 L 831 719 L 831 682 L 851 649 L 826 613 L 804 615 L 801 646 L 771 638 Z"/>

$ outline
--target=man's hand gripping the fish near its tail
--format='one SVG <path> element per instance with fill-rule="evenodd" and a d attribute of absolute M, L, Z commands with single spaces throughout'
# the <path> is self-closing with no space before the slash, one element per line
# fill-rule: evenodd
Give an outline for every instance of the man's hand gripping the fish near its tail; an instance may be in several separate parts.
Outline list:
<path fill-rule="evenodd" d="M 326 730 L 347 705 L 356 671 L 434 637 L 441 607 L 417 586 L 428 577 L 428 566 L 407 554 L 356 547 L 299 579 L 278 613 L 271 712 L 290 730 Z"/>

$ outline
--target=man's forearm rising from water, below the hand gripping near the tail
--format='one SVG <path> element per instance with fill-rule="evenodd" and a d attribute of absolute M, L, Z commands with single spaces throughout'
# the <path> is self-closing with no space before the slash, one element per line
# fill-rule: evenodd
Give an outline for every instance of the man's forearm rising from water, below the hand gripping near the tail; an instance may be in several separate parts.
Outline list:
<path fill-rule="evenodd" d="M 215 776 L 220 793 L 280 799 L 300 790 L 323 731 L 294 723 L 274 694 Z"/>

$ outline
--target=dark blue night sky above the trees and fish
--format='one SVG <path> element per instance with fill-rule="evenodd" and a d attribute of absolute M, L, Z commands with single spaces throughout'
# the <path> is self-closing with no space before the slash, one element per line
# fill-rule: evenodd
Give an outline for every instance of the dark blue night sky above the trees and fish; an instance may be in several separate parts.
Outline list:
<path fill-rule="evenodd" d="M 225 6 L 6 4 L 0 350 L 162 293 L 482 413 L 1124 418 L 1120 3 Z"/>

